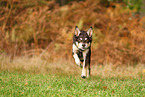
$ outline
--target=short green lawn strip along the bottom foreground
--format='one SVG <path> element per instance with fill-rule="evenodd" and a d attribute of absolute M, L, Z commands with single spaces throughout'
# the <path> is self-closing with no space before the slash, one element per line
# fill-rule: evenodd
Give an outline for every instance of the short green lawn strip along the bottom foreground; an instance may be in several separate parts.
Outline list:
<path fill-rule="evenodd" d="M 0 97 L 144 97 L 142 78 L 0 72 Z"/>

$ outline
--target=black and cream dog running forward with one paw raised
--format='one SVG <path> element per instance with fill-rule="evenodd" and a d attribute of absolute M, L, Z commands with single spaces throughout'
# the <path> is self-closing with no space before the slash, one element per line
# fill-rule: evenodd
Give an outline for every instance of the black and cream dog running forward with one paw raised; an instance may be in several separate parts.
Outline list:
<path fill-rule="evenodd" d="M 73 36 L 72 54 L 75 59 L 75 63 L 82 68 L 82 78 L 90 76 L 91 68 L 91 43 L 92 43 L 92 27 L 88 31 L 79 30 L 75 27 L 75 34 Z"/>

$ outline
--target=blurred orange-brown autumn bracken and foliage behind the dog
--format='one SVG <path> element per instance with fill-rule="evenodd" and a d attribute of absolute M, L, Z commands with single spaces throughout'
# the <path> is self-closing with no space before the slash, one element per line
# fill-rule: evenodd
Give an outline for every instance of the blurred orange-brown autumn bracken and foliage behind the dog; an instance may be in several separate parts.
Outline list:
<path fill-rule="evenodd" d="M 92 26 L 92 65 L 144 64 L 144 16 L 145 0 L 0 0 L 0 54 L 72 61 L 75 26 Z"/>

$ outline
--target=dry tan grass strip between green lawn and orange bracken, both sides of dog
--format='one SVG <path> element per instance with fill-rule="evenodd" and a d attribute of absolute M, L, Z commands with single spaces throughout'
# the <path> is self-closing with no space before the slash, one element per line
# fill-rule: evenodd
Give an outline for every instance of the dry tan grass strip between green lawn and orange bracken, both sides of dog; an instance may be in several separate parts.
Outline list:
<path fill-rule="evenodd" d="M 93 76 L 145 79 L 145 65 L 143 64 L 135 66 L 115 66 L 113 64 L 91 65 L 91 74 Z M 2 54 L 0 56 L 0 70 L 36 74 L 81 75 L 81 68 L 76 66 L 72 60 L 54 59 L 52 61 L 50 59 L 43 59 L 39 56 L 22 56 L 11 59 L 9 56 Z"/>

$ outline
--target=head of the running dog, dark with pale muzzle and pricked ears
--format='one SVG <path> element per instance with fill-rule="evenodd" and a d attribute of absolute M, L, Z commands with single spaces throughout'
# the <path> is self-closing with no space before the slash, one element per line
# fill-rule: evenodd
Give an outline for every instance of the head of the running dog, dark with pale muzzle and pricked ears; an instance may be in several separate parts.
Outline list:
<path fill-rule="evenodd" d="M 75 28 L 75 44 L 77 47 L 81 50 L 85 50 L 91 46 L 92 42 L 92 27 L 89 28 L 88 31 L 81 31 L 79 28 L 76 26 Z"/>

